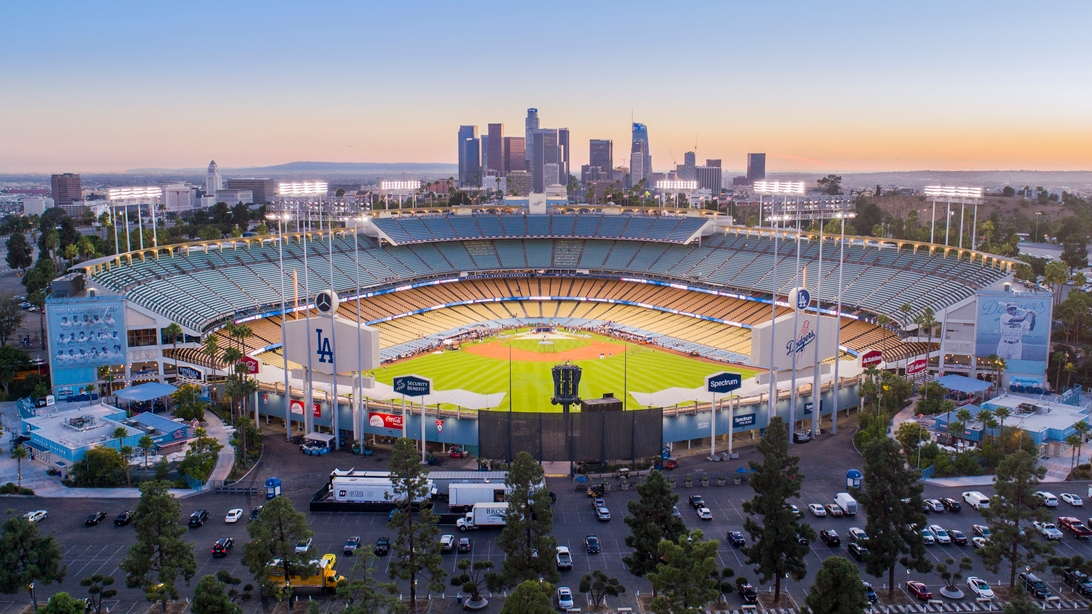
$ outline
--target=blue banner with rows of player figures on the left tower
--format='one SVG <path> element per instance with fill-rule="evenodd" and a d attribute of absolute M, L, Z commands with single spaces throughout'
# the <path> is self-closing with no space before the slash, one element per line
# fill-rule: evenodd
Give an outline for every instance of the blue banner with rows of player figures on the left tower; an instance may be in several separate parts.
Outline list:
<path fill-rule="evenodd" d="M 50 299 L 46 321 L 54 386 L 90 383 L 98 367 L 129 361 L 121 296 Z"/>

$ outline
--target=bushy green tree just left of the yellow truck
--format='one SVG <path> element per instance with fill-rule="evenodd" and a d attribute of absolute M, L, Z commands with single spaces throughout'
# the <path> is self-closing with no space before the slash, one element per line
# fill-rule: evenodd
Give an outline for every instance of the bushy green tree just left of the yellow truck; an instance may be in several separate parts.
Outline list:
<path fill-rule="evenodd" d="M 297 511 L 288 497 L 270 499 L 258 519 L 247 526 L 247 533 L 250 541 L 242 546 L 242 562 L 266 594 L 278 600 L 288 599 L 292 595 L 280 582 L 316 571 L 311 565 L 311 560 L 317 558 L 314 548 L 296 552 L 296 544 L 307 541 L 314 532 L 307 523 L 307 515 Z M 280 566 L 276 583 L 271 581 L 268 569 L 274 560 Z"/>

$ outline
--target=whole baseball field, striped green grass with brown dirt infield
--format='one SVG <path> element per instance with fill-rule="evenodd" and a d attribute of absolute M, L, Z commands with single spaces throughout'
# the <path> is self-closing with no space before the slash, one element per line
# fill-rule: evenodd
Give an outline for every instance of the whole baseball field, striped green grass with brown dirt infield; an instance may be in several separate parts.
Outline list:
<path fill-rule="evenodd" d="M 551 405 L 550 369 L 566 361 L 583 368 L 580 395 L 584 399 L 624 390 L 654 392 L 665 388 L 697 388 L 705 376 L 729 370 L 748 378 L 752 369 L 695 358 L 654 345 L 627 343 L 587 332 L 535 333 L 530 329 L 506 331 L 483 341 L 464 342 L 459 350 L 437 351 L 387 365 L 376 379 L 392 383 L 397 376 L 431 378 L 435 390 L 461 388 L 482 394 L 505 393 L 497 408 L 514 411 L 561 411 Z M 511 382 L 511 394 L 509 385 Z M 627 409 L 641 409 L 626 398 Z"/>

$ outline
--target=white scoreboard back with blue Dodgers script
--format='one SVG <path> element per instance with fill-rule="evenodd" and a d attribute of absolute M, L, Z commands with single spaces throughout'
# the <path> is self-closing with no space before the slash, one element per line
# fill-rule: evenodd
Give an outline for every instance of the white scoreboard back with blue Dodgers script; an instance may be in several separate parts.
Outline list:
<path fill-rule="evenodd" d="M 820 361 L 834 356 L 838 318 L 788 314 L 751 328 L 751 362 L 760 367 L 791 369 L 794 361 L 797 368 L 809 367 L 815 363 L 816 346 Z"/>

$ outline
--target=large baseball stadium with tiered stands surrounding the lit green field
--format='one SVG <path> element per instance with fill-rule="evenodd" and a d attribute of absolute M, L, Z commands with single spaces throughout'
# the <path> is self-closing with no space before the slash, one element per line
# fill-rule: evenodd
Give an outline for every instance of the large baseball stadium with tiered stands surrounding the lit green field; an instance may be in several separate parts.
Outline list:
<path fill-rule="evenodd" d="M 308 229 L 298 219 L 285 225 L 277 232 L 274 222 L 266 236 L 162 246 L 81 264 L 99 296 L 124 298 L 127 329 L 175 322 L 186 334 L 179 343 L 156 340 L 158 352 L 141 354 L 143 364 L 130 357 L 126 376 L 215 379 L 228 365 L 203 352 L 202 341 L 216 335 L 219 347 L 241 343 L 261 363 L 258 405 L 271 417 L 353 439 L 391 435 L 397 425 L 413 434 L 426 422 L 429 441 L 477 446 L 473 423 L 480 412 L 561 412 L 550 403 L 550 371 L 571 364 L 583 369 L 582 398 L 614 395 L 626 410 L 660 410 L 664 442 L 692 440 L 710 436 L 703 387 L 707 376 L 722 371 L 748 382 L 736 417 L 748 403 L 757 414 L 731 423 L 732 430 L 768 423 L 769 387 L 753 379 L 767 369 L 752 364 L 751 329 L 792 314 L 793 288 L 807 288 L 811 312 L 839 318 L 845 365 L 839 383 L 851 393 L 821 402 L 827 415 L 834 405 L 856 404 L 857 356 L 879 351 L 887 367 L 898 369 L 928 355 L 936 359 L 939 345 L 931 332 L 916 330 L 917 316 L 928 309 L 942 321 L 977 293 L 1001 291 L 1013 269 L 1011 260 L 970 249 L 738 226 L 697 210 L 406 210 L 337 220 L 333 229 Z M 285 319 L 329 318 L 308 300 L 320 291 L 336 293 L 336 317 L 379 332 L 380 355 L 364 374 L 373 383 L 354 395 L 354 383 L 339 380 L 336 412 L 330 378 L 306 381 L 307 365 L 287 362 L 282 345 Z M 229 324 L 238 323 L 252 334 L 230 336 Z M 416 400 L 425 421 L 391 391 L 404 375 L 431 380 L 430 395 Z M 822 378 L 821 395 L 833 380 Z M 293 399 L 313 387 L 313 417 L 288 411 L 285 383 Z M 810 379 L 796 383 L 811 394 Z M 779 379 L 778 387 L 774 411 L 781 412 L 791 386 Z M 695 420 L 701 410 L 704 423 Z M 399 420 L 372 415 L 383 413 Z M 684 417 L 692 424 L 667 424 Z"/>

